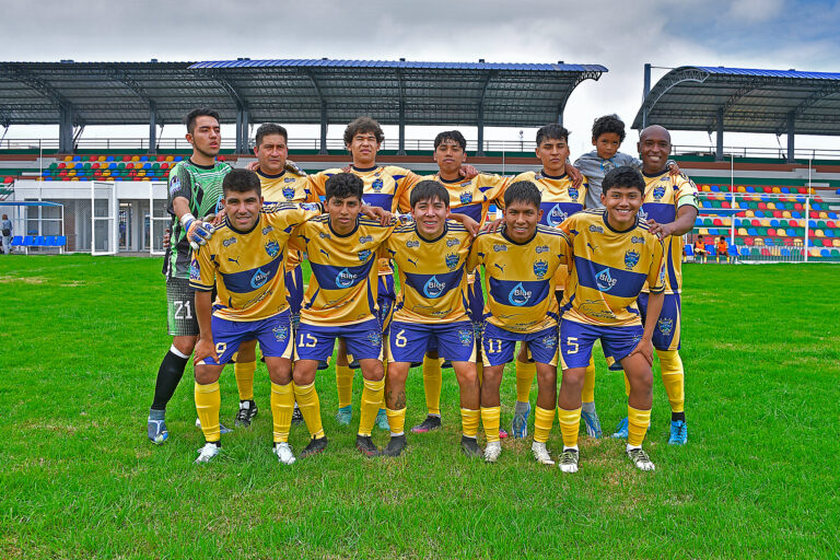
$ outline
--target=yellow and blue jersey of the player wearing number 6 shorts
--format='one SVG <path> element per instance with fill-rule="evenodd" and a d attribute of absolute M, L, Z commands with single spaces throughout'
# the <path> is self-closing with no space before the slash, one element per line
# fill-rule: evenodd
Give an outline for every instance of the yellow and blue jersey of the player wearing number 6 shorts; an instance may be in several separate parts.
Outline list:
<path fill-rule="evenodd" d="M 400 225 L 385 244 L 397 264 L 400 290 L 394 320 L 452 323 L 467 316 L 466 264 L 472 235 L 446 221 L 436 240 L 427 241 L 417 225 Z"/>

